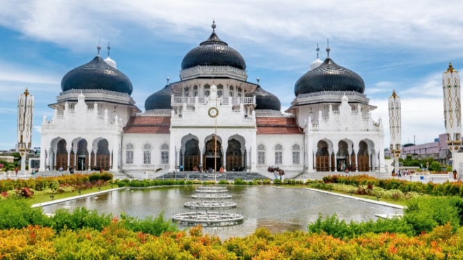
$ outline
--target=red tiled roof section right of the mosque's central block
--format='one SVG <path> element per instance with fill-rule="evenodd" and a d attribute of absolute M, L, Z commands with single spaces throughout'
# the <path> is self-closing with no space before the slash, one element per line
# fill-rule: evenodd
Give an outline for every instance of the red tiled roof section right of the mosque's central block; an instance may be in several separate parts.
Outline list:
<path fill-rule="evenodd" d="M 256 117 L 257 134 L 302 133 L 295 117 Z"/>

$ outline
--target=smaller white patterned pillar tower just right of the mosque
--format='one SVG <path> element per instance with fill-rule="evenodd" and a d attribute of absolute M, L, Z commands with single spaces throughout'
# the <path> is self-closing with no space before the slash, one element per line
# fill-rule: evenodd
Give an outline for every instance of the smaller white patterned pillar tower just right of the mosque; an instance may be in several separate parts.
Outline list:
<path fill-rule="evenodd" d="M 394 159 L 395 173 L 399 172 L 399 158 L 402 151 L 402 115 L 400 97 L 393 90 L 389 97 L 389 133 L 391 135 L 391 154 Z"/>

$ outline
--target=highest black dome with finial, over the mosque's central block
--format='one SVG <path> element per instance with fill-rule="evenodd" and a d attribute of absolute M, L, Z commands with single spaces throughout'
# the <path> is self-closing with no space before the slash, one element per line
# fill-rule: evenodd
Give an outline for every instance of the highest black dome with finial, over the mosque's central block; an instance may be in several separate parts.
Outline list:
<path fill-rule="evenodd" d="M 215 24 L 212 24 L 212 29 L 215 29 Z M 243 56 L 220 40 L 215 30 L 212 31 L 209 39 L 189 51 L 182 60 L 182 70 L 198 65 L 230 66 L 246 70 Z"/>

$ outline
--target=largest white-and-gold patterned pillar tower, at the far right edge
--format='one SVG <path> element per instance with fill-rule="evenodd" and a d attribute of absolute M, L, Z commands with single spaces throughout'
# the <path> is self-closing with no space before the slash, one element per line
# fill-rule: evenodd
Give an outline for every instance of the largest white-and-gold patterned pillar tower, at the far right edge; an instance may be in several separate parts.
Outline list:
<path fill-rule="evenodd" d="M 460 74 L 449 63 L 442 75 L 444 91 L 444 123 L 447 134 L 447 147 L 452 153 L 452 168 L 456 170 L 455 154 L 462 146 L 462 113 L 460 102 Z"/>

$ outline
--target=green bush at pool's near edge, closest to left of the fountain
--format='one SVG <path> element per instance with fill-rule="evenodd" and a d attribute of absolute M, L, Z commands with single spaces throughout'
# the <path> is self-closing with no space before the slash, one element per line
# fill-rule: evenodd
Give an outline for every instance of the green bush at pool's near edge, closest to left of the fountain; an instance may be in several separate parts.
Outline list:
<path fill-rule="evenodd" d="M 143 220 L 121 213 L 120 219 L 123 220 L 123 227 L 126 229 L 135 232 L 143 232 L 144 234 L 160 236 L 166 231 L 178 231 L 177 225 L 172 221 L 164 220 L 164 212 L 160 213 L 157 218 L 152 218 L 150 216 Z"/>

